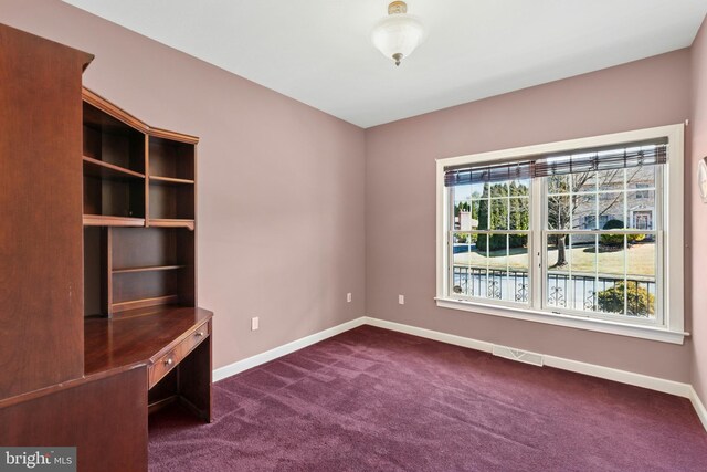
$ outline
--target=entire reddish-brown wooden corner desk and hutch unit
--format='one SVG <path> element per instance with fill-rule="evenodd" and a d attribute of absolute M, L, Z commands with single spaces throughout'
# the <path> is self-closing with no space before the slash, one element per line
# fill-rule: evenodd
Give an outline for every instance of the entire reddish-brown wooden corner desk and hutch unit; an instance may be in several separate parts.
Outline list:
<path fill-rule="evenodd" d="M 89 54 L 2 24 L 0 51 L 0 444 L 147 470 L 148 411 L 211 420 L 198 138 L 83 88 Z"/>

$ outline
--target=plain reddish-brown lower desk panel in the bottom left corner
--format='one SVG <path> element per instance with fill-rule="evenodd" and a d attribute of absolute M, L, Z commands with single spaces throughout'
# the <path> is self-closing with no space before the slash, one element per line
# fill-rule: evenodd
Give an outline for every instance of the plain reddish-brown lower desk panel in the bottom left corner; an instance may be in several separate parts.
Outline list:
<path fill-rule="evenodd" d="M 76 447 L 80 471 L 147 471 L 147 371 L 134 368 L 0 408 L 0 444 Z"/>

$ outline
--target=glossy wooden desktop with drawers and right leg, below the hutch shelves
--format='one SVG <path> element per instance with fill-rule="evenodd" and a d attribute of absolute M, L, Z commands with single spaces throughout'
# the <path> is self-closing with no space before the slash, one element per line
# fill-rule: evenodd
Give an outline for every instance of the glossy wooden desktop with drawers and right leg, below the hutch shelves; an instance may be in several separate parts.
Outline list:
<path fill-rule="evenodd" d="M 86 376 L 147 366 L 149 411 L 179 401 L 211 421 L 211 317 L 194 307 L 158 306 L 84 322 Z"/>

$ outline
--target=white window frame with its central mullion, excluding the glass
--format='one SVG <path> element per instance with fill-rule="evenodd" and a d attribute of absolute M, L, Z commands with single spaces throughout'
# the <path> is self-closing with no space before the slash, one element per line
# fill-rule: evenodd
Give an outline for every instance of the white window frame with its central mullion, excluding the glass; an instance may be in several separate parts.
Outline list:
<path fill-rule="evenodd" d="M 527 147 L 518 147 L 511 149 L 503 149 L 489 153 L 473 154 L 467 156 L 450 157 L 436 160 L 436 304 L 440 307 L 461 310 L 466 312 L 481 313 L 486 315 L 495 315 L 510 317 L 516 319 L 525 319 L 558 326 L 567 326 L 579 329 L 588 329 L 601 333 L 611 333 L 631 337 L 659 340 L 673 344 L 683 344 L 685 333 L 684 316 L 684 141 L 685 127 L 683 124 L 659 126 L 654 128 L 637 129 L 625 133 L 614 133 L 609 135 L 593 136 L 580 139 L 570 139 L 557 143 L 548 143 Z M 615 317 L 594 317 L 590 314 L 557 313 L 549 308 L 538 308 L 546 306 L 542 293 L 544 271 L 540 258 L 545 254 L 546 242 L 542 231 L 544 212 L 542 196 L 544 179 L 532 179 L 530 195 L 531 213 L 536 217 L 531 219 L 530 237 L 532 241 L 529 248 L 530 270 L 528 271 L 529 280 L 531 280 L 531 296 L 534 305 L 530 307 L 513 306 L 508 303 L 496 303 L 494 301 L 477 301 L 468 297 L 455 297 L 450 292 L 449 270 L 450 270 L 450 248 L 449 231 L 450 224 L 453 229 L 453 217 L 449 216 L 449 192 L 444 187 L 444 169 L 445 167 L 473 165 L 473 164 L 494 164 L 508 160 L 520 159 L 530 156 L 545 154 L 567 153 L 576 149 L 620 145 L 624 143 L 635 143 L 642 140 L 651 140 L 658 138 L 667 138 L 668 155 L 667 164 L 663 167 L 665 178 L 665 187 L 663 189 L 663 199 L 656 200 L 656 204 L 662 204 L 663 213 L 663 233 L 658 239 L 662 243 L 663 261 L 657 261 L 656 275 L 662 276 L 663 283 L 656 284 L 657 297 L 662 298 L 662 318 L 658 324 L 645 324 L 636 319 L 619 321 Z M 656 182 L 656 186 L 661 185 Z M 656 192 L 657 196 L 658 192 Z M 669 230 L 668 230 L 669 229 Z M 659 248 L 658 248 L 658 254 Z M 662 265 L 662 269 L 661 269 Z"/>

